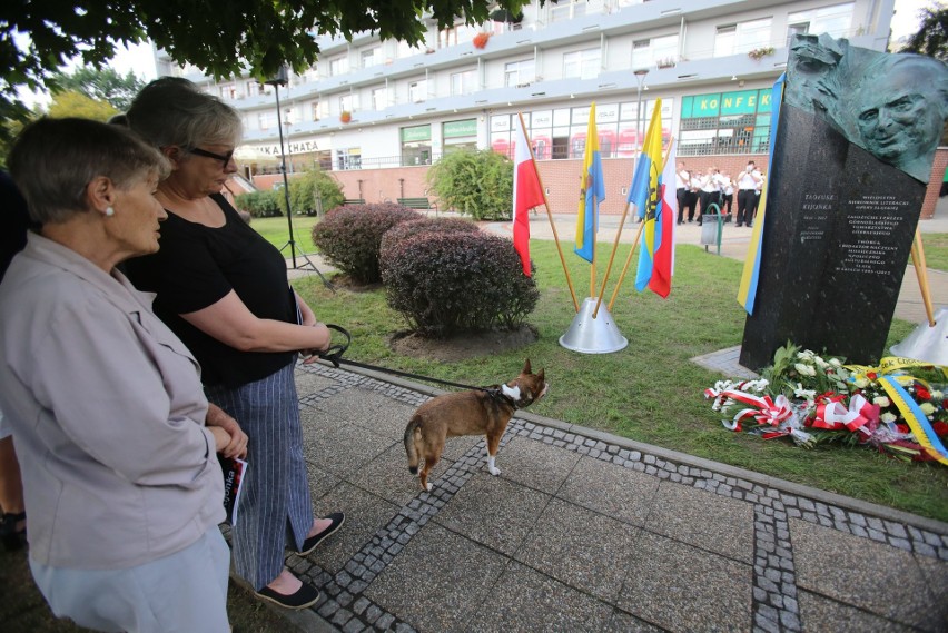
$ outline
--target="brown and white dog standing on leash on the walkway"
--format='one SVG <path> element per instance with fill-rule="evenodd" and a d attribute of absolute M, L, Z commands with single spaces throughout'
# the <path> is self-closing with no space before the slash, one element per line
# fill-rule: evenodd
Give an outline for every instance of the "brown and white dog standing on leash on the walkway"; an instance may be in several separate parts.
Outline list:
<path fill-rule="evenodd" d="M 527 359 L 520 376 L 505 385 L 445 394 L 426 402 L 405 427 L 408 471 L 418 475 L 422 489 L 432 489 L 428 473 L 441 458 L 445 439 L 483 433 L 487 436 L 487 469 L 500 475 L 494 458 L 507 423 L 516 409 L 542 398 L 547 387 L 544 370 L 533 374 Z M 421 461 L 424 465 L 418 469 Z"/>

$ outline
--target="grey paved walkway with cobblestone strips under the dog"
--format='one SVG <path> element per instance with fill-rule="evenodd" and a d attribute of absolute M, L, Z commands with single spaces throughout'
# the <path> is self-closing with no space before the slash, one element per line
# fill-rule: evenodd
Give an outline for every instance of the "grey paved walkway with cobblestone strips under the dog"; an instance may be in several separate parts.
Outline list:
<path fill-rule="evenodd" d="M 317 364 L 297 384 L 316 510 L 348 515 L 288 557 L 324 593 L 300 630 L 948 626 L 948 524 L 526 412 L 500 477 L 455 438 L 422 492 L 402 434 L 437 390 Z"/>

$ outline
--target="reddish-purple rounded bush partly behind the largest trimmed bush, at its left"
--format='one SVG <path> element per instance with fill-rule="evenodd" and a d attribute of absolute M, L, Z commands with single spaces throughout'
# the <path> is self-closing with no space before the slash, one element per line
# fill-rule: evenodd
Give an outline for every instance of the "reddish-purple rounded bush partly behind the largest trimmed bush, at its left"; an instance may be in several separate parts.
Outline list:
<path fill-rule="evenodd" d="M 382 280 L 382 236 L 396 225 L 421 217 L 401 205 L 346 205 L 333 209 L 313 227 L 313 244 L 329 264 L 356 283 L 375 284 Z"/>

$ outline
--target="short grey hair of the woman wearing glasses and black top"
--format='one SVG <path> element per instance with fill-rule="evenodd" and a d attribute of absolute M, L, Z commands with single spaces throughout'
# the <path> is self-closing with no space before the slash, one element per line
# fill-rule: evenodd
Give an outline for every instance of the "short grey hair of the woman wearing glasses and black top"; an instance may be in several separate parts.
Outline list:
<path fill-rule="evenodd" d="M 237 110 L 181 77 L 161 77 L 142 88 L 126 119 L 157 148 L 237 145 L 243 135 Z"/>

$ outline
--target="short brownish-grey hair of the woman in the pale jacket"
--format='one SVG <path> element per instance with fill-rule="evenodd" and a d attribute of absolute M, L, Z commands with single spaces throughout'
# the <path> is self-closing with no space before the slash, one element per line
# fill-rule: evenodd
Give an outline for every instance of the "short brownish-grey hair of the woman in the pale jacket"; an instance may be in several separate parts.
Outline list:
<path fill-rule="evenodd" d="M 38 224 L 89 211 L 86 187 L 100 176 L 127 190 L 152 174 L 170 172 L 161 152 L 131 130 L 79 118 L 43 117 L 23 128 L 8 166 Z"/>

